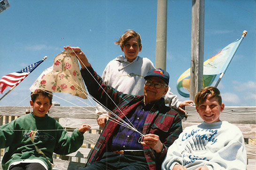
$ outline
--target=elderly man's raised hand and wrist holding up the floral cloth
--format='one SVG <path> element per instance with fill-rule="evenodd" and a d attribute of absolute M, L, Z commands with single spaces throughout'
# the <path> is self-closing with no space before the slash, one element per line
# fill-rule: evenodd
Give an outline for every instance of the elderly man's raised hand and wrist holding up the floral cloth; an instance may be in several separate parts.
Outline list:
<path fill-rule="evenodd" d="M 70 49 L 70 50 L 74 51 L 74 52 L 71 52 L 70 55 L 78 57 L 78 60 L 80 62 L 80 65 L 81 65 L 82 69 L 84 69 L 85 67 L 90 66 L 90 63 L 88 62 L 88 59 L 85 56 L 85 53 L 82 52 L 79 47 L 65 46 L 63 48 L 64 48 L 64 50 Z"/>

